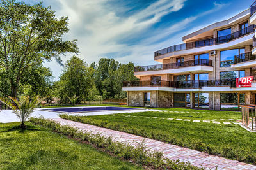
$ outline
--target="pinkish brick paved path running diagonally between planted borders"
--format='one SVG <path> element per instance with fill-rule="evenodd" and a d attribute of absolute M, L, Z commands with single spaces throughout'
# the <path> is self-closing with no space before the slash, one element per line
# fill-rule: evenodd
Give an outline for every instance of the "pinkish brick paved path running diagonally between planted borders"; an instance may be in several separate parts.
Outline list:
<path fill-rule="evenodd" d="M 238 162 L 236 160 L 229 160 L 223 157 L 209 155 L 204 152 L 199 152 L 188 148 L 182 148 L 180 146 L 163 143 L 161 141 L 156 141 L 153 139 L 143 138 L 133 134 L 113 131 L 110 129 L 82 124 L 79 122 L 74 122 L 61 118 L 56 118 L 54 119 L 54 121 L 60 123 L 61 125 L 70 125 L 72 127 L 77 127 L 82 131 L 91 131 L 93 134 L 100 133 L 102 134 L 102 136 L 112 136 L 114 141 L 124 141 L 128 143 L 135 143 L 136 141 L 138 143 L 141 143 L 141 141 L 145 139 L 145 143 L 148 148 L 152 150 L 161 150 L 164 154 L 164 157 L 175 160 L 179 159 L 181 162 L 190 162 L 194 166 L 198 167 L 203 166 L 210 169 L 215 169 L 216 167 L 218 167 L 218 169 L 256 169 L 256 166 L 243 162 Z"/>

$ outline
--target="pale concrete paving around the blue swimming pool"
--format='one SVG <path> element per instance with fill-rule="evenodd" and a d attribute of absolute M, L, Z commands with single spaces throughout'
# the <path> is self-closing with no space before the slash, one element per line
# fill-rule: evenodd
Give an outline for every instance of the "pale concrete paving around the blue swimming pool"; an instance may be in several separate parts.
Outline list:
<path fill-rule="evenodd" d="M 90 107 L 90 106 L 88 106 Z M 92 106 L 92 107 L 100 107 L 100 106 Z M 67 107 L 69 108 L 69 107 Z M 84 108 L 84 106 L 77 107 L 77 108 Z M 36 109 L 32 114 L 31 117 L 44 117 L 44 118 L 60 118 L 59 115 L 61 113 L 57 113 L 54 111 L 45 111 L 42 109 Z M 52 108 L 51 108 L 52 109 Z M 95 112 L 84 112 L 84 113 L 71 113 L 72 115 L 79 115 L 79 116 L 93 116 L 93 115 L 109 115 L 109 114 L 116 114 L 116 113 L 137 113 L 137 112 L 145 112 L 145 111 L 159 111 L 159 110 L 152 110 L 152 109 L 138 109 L 138 110 L 118 110 L 118 111 L 95 111 Z M 13 113 L 12 110 L 1 110 L 0 111 L 0 123 L 10 123 L 10 122 L 19 122 L 19 118 Z"/>

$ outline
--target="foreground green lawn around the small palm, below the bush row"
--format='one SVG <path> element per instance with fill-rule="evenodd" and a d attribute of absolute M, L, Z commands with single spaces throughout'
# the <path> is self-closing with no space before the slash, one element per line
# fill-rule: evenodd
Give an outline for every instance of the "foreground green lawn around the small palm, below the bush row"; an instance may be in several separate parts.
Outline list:
<path fill-rule="evenodd" d="M 0 169 L 140 169 L 44 127 L 0 124 Z"/>

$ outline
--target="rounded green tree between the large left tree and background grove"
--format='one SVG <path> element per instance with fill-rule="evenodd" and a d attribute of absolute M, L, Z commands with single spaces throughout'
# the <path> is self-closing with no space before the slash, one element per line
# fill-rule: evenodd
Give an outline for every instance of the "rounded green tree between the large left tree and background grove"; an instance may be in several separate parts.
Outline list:
<path fill-rule="evenodd" d="M 94 69 L 79 57 L 73 56 L 64 64 L 60 81 L 55 83 L 56 94 L 62 102 L 67 103 L 68 96 L 80 96 L 79 100 L 90 98 L 92 90 L 95 90 L 93 80 Z"/>

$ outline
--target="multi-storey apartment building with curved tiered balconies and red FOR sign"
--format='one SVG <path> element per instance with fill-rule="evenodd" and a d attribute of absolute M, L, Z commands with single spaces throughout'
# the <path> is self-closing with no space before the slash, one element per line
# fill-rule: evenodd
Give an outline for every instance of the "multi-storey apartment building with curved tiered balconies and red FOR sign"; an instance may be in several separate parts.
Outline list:
<path fill-rule="evenodd" d="M 236 16 L 154 53 L 161 63 L 134 68 L 140 81 L 123 83 L 127 105 L 239 110 L 255 104 L 256 3 Z"/>

